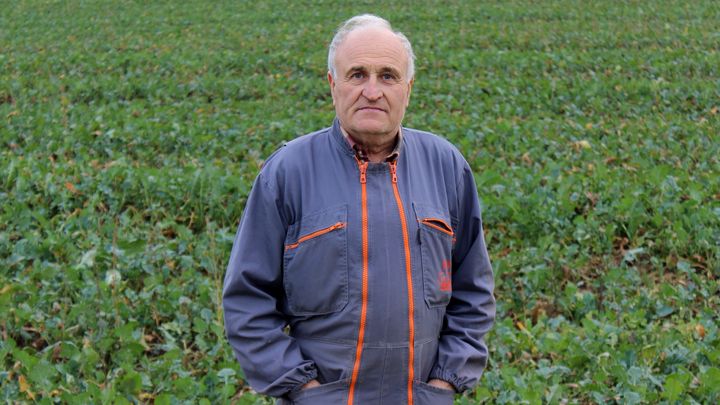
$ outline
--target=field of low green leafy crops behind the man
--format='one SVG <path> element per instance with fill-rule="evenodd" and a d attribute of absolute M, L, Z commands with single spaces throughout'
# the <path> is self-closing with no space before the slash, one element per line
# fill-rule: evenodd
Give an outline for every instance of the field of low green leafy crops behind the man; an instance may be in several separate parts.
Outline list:
<path fill-rule="evenodd" d="M 324 3 L 3 2 L 0 401 L 269 403 L 224 337 L 235 228 L 374 12 L 483 204 L 498 320 L 456 402 L 720 402 L 720 3 Z"/>

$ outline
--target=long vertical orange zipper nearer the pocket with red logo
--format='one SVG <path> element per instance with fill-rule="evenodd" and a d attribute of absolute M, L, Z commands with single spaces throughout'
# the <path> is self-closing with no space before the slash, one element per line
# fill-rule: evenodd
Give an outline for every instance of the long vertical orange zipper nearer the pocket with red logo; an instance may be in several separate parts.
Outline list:
<path fill-rule="evenodd" d="M 390 162 L 390 176 L 393 184 L 395 202 L 400 214 L 400 224 L 403 232 L 403 247 L 405 250 L 405 278 L 408 289 L 408 405 L 413 405 L 412 382 L 415 379 L 415 298 L 412 288 L 412 266 L 410 265 L 410 238 L 407 231 L 407 219 L 403 208 L 400 190 L 397 186 L 397 159 Z"/>

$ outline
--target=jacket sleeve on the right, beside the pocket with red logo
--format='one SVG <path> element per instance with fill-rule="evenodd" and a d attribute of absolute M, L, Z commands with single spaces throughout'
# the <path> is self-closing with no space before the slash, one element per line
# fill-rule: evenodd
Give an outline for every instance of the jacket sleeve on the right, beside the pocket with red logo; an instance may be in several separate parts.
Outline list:
<path fill-rule="evenodd" d="M 457 185 L 457 229 L 453 250 L 452 297 L 440 334 L 437 363 L 430 378 L 438 378 L 463 392 L 477 384 L 487 364 L 484 336 L 495 320 L 494 280 L 485 238 L 480 202 L 472 171 L 463 159 Z"/>

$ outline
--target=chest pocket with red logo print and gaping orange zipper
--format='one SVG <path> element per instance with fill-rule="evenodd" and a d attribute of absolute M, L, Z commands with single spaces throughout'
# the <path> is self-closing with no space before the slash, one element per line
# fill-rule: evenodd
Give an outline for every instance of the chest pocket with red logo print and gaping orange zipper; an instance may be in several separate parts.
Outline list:
<path fill-rule="evenodd" d="M 413 203 L 420 232 L 423 292 L 431 308 L 442 307 L 452 297 L 452 247 L 455 232 L 447 213 Z"/>

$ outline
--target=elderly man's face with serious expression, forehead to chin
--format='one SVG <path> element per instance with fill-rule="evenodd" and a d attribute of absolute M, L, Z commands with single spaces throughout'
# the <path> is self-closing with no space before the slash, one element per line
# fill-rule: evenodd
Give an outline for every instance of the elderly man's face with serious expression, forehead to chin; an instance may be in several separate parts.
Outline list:
<path fill-rule="evenodd" d="M 353 31 L 335 52 L 337 77 L 328 73 L 340 124 L 357 141 L 386 140 L 397 134 L 410 101 L 408 55 L 391 31 Z"/>

